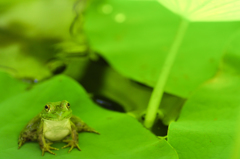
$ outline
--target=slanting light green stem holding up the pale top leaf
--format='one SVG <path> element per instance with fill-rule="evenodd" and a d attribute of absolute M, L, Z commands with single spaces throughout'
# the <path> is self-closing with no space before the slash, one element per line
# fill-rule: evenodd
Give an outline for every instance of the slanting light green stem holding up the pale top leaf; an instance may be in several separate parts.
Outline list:
<path fill-rule="evenodd" d="M 188 26 L 188 21 L 185 19 L 182 19 L 182 22 L 179 26 L 177 35 L 175 37 L 175 40 L 169 50 L 168 56 L 166 57 L 165 63 L 162 67 L 162 70 L 159 74 L 159 78 L 157 80 L 157 83 L 153 89 L 151 98 L 148 103 L 146 118 L 144 121 L 144 126 L 148 129 L 150 129 L 155 121 L 158 107 L 161 103 L 161 99 L 164 92 L 164 87 L 166 84 L 166 81 L 168 79 L 169 73 L 171 71 L 171 68 L 173 66 L 173 63 L 176 59 L 176 55 L 178 53 L 179 46 L 181 45 L 181 42 L 183 40 L 183 37 L 185 35 L 185 31 Z"/>

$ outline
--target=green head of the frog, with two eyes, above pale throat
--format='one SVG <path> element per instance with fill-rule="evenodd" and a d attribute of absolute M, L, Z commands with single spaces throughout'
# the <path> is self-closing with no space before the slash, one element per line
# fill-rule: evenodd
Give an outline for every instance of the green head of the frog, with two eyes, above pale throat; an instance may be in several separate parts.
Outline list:
<path fill-rule="evenodd" d="M 59 121 L 71 118 L 72 110 L 66 100 L 49 102 L 44 106 L 40 115 L 42 119 Z"/>

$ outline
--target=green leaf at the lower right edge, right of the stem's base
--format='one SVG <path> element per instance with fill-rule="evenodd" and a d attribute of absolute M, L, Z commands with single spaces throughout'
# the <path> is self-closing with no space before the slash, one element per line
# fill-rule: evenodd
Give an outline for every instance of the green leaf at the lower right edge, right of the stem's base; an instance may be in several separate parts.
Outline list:
<path fill-rule="evenodd" d="M 231 46 L 239 44 L 236 38 Z M 218 73 L 186 102 L 168 141 L 180 158 L 238 159 L 240 50 L 228 49 Z"/>

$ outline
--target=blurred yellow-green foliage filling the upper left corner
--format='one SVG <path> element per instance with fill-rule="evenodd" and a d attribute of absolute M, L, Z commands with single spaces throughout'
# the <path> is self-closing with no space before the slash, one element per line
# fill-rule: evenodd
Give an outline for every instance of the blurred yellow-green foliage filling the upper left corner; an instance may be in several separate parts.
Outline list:
<path fill-rule="evenodd" d="M 42 80 L 57 67 L 48 64 L 49 60 L 86 52 L 84 37 L 70 34 L 75 31 L 71 28 L 76 19 L 74 0 L 1 1 L 0 5 L 7 6 L 0 18 L 0 69 L 17 78 Z"/>

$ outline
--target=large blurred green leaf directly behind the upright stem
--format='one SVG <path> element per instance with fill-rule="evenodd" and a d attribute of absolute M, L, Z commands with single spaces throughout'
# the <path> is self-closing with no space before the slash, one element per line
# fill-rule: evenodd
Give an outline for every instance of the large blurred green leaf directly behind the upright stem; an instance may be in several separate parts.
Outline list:
<path fill-rule="evenodd" d="M 94 50 L 123 75 L 155 86 L 180 17 L 157 1 L 94 1 L 85 31 Z M 190 23 L 165 91 L 188 97 L 217 71 L 239 22 Z"/>

